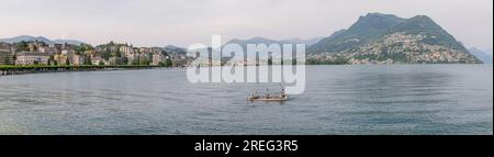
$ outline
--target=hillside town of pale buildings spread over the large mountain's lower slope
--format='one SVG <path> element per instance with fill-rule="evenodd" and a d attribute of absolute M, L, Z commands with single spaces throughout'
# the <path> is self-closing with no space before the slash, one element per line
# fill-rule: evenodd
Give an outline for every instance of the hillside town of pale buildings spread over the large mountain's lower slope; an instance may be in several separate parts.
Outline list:
<path fill-rule="evenodd" d="M 307 56 L 308 64 L 479 64 L 465 49 L 451 48 L 446 44 L 428 44 L 436 36 L 406 34 L 403 32 L 339 53 L 318 53 Z"/>

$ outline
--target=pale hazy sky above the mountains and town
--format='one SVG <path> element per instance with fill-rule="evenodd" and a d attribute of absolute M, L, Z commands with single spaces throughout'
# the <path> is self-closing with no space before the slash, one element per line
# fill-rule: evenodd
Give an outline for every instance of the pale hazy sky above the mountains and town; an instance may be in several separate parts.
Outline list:
<path fill-rule="evenodd" d="M 492 48 L 493 0 L 0 0 L 0 38 L 18 35 L 188 46 L 328 36 L 369 12 L 425 14 L 467 46 Z"/>

